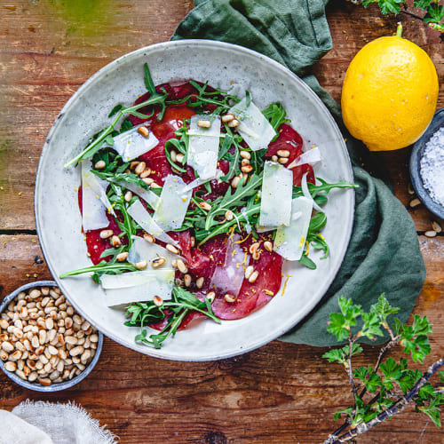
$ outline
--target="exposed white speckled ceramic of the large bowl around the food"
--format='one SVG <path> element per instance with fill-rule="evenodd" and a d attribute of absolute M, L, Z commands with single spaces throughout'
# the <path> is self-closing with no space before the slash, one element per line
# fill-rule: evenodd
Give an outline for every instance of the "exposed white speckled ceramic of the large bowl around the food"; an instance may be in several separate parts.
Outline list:
<path fill-rule="evenodd" d="M 233 82 L 250 90 L 259 107 L 281 101 L 295 129 L 308 143 L 320 147 L 324 161 L 315 172 L 328 181 L 353 181 L 344 140 L 321 100 L 287 68 L 241 46 L 207 40 L 155 44 L 116 59 L 75 92 L 46 139 L 36 177 L 37 232 L 52 275 L 76 310 L 120 344 L 159 358 L 208 361 L 248 352 L 296 325 L 329 288 L 352 231 L 353 190 L 330 193 L 325 208 L 329 221 L 322 233 L 331 253 L 326 260 L 316 259 L 317 270 L 288 262 L 283 273 L 293 277 L 284 296 L 279 293 L 242 320 L 224 321 L 222 325 L 207 320 L 179 331 L 161 350 L 134 342 L 139 329 L 123 326 L 123 311 L 104 304 L 103 291 L 90 276 L 58 278 L 69 270 L 91 265 L 75 192 L 79 171 L 64 170 L 63 165 L 83 149 L 91 134 L 106 125 L 107 114 L 115 104 L 130 105 L 146 91 L 145 62 L 155 84 L 192 78 L 227 90 Z"/>

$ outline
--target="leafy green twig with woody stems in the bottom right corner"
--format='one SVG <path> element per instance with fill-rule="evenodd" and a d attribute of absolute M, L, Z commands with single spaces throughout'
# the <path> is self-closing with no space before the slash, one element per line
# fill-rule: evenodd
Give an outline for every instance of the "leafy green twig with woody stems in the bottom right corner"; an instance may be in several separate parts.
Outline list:
<path fill-rule="evenodd" d="M 339 298 L 339 308 L 341 313 L 330 314 L 328 331 L 338 341 L 346 340 L 348 344 L 330 350 L 323 357 L 344 365 L 352 385 L 353 405 L 335 413 L 335 420 L 345 416 L 345 423 L 331 433 L 324 444 L 354 440 L 376 424 L 400 413 L 410 402 L 415 403 L 416 412 L 430 416 L 433 423 L 440 427 L 443 388 L 435 388 L 429 380 L 439 372 L 440 382 L 444 384 L 444 371 L 440 371 L 444 367 L 444 358 L 434 362 L 424 374 L 418 369 L 408 369 L 406 358 L 401 358 L 400 362 L 393 358 L 384 361 L 386 353 L 395 345 L 400 345 L 413 361 L 422 363 L 430 353 L 428 335 L 432 333 L 432 324 L 427 318 L 416 314 L 412 325 L 402 324 L 398 318 L 394 318 L 390 326 L 387 318 L 397 313 L 399 308 L 392 307 L 384 294 L 377 304 L 370 307 L 369 313 L 345 297 Z M 361 323 L 359 328 L 358 321 Z M 375 367 L 369 365 L 353 369 L 353 356 L 362 353 L 357 341 L 362 337 L 370 340 L 382 337 L 383 329 L 388 332 L 390 341 L 381 348 Z"/>

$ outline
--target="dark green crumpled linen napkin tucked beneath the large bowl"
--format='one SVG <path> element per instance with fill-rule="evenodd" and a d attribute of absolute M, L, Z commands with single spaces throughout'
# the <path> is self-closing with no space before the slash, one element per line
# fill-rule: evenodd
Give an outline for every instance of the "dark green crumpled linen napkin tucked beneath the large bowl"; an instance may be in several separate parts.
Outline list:
<path fill-rule="evenodd" d="M 425 280 L 424 260 L 407 210 L 383 179 L 369 173 L 374 169 L 371 156 L 361 142 L 348 134 L 340 107 L 310 75 L 310 67 L 332 47 L 325 17 L 327 3 L 328 0 L 194 0 L 194 10 L 171 37 L 241 44 L 279 61 L 302 77 L 321 98 L 347 139 L 354 180 L 360 187 L 356 190 L 353 234 L 345 259 L 313 312 L 281 337 L 283 341 L 318 346 L 337 344 L 327 332 L 327 322 L 329 313 L 337 312 L 341 295 L 368 309 L 385 292 L 392 305 L 400 306 L 400 321 L 406 321 Z"/>

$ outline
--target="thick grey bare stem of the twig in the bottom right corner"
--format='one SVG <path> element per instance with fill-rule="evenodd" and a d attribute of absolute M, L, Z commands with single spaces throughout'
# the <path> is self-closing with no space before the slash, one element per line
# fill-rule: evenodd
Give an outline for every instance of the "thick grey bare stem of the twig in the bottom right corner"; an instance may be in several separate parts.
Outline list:
<path fill-rule="evenodd" d="M 397 415 L 400 413 L 404 408 L 408 406 L 408 402 L 413 400 L 419 390 L 429 381 L 429 379 L 441 368 L 444 366 L 444 358 L 441 358 L 440 361 L 436 361 L 432 366 L 427 369 L 427 371 L 424 373 L 424 375 L 416 381 L 416 384 L 413 386 L 413 388 L 408 392 L 405 396 L 397 400 L 391 408 L 388 408 L 384 412 L 380 413 L 378 416 L 373 418 L 368 423 L 362 423 L 359 424 L 357 427 L 355 427 L 350 432 L 345 433 L 342 436 L 337 437 L 336 440 L 330 440 L 330 437 L 328 440 L 325 441 L 324 444 L 339 444 L 341 442 L 346 442 L 349 440 L 353 440 L 356 438 L 356 436 L 361 435 L 364 432 L 369 431 L 373 426 L 376 424 L 382 423 L 385 421 L 385 419 Z"/>

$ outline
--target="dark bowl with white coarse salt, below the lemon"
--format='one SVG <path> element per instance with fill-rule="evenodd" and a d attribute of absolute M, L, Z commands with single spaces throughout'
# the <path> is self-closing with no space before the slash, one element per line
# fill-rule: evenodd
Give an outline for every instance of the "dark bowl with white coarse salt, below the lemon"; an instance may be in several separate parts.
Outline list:
<path fill-rule="evenodd" d="M 444 218 L 444 108 L 435 113 L 413 146 L 410 179 L 419 200 L 434 215 Z"/>

